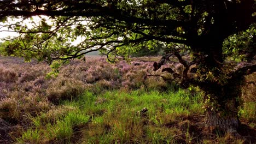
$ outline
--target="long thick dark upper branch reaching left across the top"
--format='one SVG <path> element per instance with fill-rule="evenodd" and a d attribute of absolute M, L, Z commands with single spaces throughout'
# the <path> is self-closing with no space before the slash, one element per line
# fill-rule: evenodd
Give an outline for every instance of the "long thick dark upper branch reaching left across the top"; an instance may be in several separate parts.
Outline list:
<path fill-rule="evenodd" d="M 35 6 L 36 7 L 36 6 Z M 16 9 L 15 7 L 13 9 Z M 101 5 L 89 4 L 89 3 L 72 3 L 68 8 L 62 10 L 42 10 L 36 9 L 34 11 L 28 10 L 6 10 L 0 11 L 0 19 L 5 16 L 110 16 L 114 19 L 125 21 L 127 23 L 147 23 L 151 26 L 185 26 L 188 22 L 177 20 L 159 20 L 159 19 L 144 19 L 141 17 L 135 17 L 120 9 L 102 7 Z"/>

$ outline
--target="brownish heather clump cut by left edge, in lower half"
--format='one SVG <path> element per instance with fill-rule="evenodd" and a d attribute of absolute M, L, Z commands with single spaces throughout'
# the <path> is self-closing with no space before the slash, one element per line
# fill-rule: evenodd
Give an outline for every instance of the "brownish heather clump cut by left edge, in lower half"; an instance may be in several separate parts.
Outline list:
<path fill-rule="evenodd" d="M 19 117 L 18 103 L 13 98 L 5 98 L 0 101 L 0 118 L 6 121 L 15 121 Z"/>

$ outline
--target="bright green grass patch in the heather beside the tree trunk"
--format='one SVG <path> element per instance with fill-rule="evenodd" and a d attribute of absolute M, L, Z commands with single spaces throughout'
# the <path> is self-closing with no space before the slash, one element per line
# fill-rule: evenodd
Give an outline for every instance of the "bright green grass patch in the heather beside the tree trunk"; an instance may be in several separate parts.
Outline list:
<path fill-rule="evenodd" d="M 138 111 L 147 107 L 145 116 Z M 33 129 L 18 142 L 71 143 L 173 143 L 178 129 L 166 123 L 179 117 L 203 113 L 200 94 L 158 91 L 85 92 L 77 99 L 61 101 L 48 113 L 32 118 Z M 39 139 L 40 138 L 40 139 Z"/>

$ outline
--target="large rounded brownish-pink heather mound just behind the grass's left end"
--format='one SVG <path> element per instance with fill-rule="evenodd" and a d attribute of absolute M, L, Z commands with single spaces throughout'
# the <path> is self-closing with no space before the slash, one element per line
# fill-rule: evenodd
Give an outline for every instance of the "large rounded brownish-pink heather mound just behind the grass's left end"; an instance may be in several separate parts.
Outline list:
<path fill-rule="evenodd" d="M 67 100 L 77 97 L 85 90 L 84 83 L 79 80 L 66 77 L 57 77 L 46 89 L 48 100 L 56 103 L 60 100 Z"/>

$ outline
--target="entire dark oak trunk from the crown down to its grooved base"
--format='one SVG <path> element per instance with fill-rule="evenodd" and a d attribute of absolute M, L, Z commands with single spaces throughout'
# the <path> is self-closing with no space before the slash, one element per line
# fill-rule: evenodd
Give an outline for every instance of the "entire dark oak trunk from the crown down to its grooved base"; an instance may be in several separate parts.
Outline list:
<path fill-rule="evenodd" d="M 207 94 L 206 124 L 212 130 L 225 131 L 238 135 L 237 128 L 240 125 L 238 119 L 238 97 L 241 95 L 242 79 L 228 80 L 225 77 L 222 43 L 219 33 L 214 31 L 199 37 L 191 45 L 195 54 L 200 55 L 198 63 L 201 81 L 196 83 Z M 212 78 L 208 77 L 209 71 Z"/>

